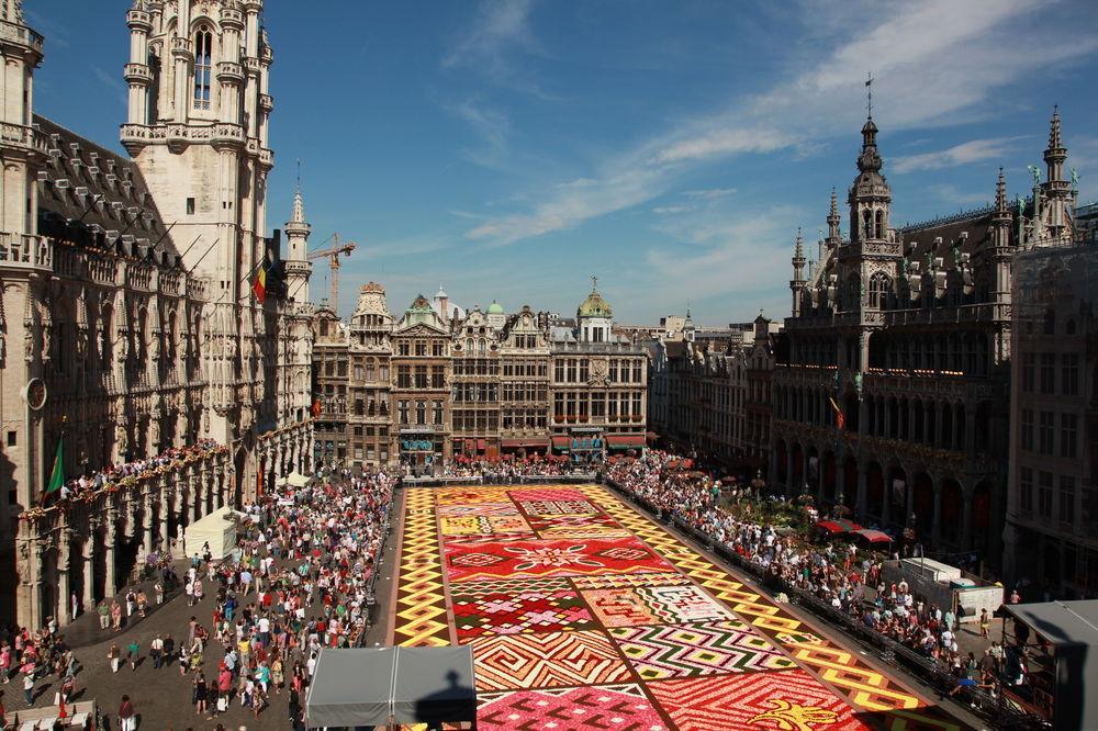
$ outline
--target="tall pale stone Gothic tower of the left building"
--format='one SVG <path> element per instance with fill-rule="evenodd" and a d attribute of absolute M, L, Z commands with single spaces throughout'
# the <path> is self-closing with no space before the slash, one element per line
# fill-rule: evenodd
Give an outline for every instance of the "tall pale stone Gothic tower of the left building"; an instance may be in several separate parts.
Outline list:
<path fill-rule="evenodd" d="M 262 0 L 135 0 L 128 119 L 122 144 L 141 168 L 183 265 L 209 301 L 202 329 L 210 384 L 203 431 L 232 443 L 276 412 L 273 297 L 251 295 L 266 258 L 273 166 L 268 80 L 273 54 Z"/>

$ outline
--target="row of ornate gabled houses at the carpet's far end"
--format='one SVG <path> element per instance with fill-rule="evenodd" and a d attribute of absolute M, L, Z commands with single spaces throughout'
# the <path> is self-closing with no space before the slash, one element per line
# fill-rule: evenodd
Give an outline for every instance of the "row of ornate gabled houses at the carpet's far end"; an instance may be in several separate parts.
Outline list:
<path fill-rule="evenodd" d="M 597 292 L 560 322 L 496 302 L 467 311 L 439 290 L 393 323 L 373 282 L 349 327 L 318 308 L 317 459 L 426 473 L 462 458 L 642 449 L 647 351 L 613 333 Z"/>

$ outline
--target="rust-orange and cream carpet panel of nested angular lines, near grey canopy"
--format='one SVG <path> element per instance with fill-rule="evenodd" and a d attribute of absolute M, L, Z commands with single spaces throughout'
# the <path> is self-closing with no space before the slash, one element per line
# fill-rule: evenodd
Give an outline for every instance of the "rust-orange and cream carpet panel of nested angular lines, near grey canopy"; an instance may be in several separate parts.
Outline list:
<path fill-rule="evenodd" d="M 497 634 L 472 641 L 477 690 L 559 688 L 632 679 L 602 632 Z"/>

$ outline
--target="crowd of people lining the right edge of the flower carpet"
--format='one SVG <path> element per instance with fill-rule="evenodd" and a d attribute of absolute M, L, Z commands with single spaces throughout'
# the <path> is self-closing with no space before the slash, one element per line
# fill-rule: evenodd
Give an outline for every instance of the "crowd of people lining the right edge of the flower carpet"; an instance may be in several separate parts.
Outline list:
<path fill-rule="evenodd" d="M 755 564 L 772 584 L 811 595 L 935 660 L 963 678 L 964 687 L 971 681 L 997 690 L 1002 648 L 991 644 L 979 659 L 962 652 L 959 618 L 950 608 L 915 596 L 907 582 L 886 583 L 882 577 L 886 556 L 861 551 L 852 542 L 819 543 L 795 531 L 780 532 L 774 526 L 751 520 L 749 514 L 733 513 L 721 505 L 720 482 L 687 466 L 692 465 L 684 464 L 682 458 L 649 450 L 639 459 L 615 463 L 608 475 L 624 490 Z M 987 637 L 986 612 L 978 622 L 982 636 Z"/>

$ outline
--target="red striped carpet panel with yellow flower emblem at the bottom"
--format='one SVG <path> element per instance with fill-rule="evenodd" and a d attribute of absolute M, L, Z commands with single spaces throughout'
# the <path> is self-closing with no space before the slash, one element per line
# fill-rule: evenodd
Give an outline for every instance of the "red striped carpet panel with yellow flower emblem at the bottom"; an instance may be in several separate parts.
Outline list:
<path fill-rule="evenodd" d="M 647 688 L 683 731 L 869 728 L 850 706 L 799 670 L 656 681 Z"/>

